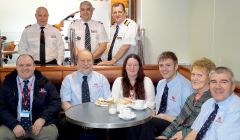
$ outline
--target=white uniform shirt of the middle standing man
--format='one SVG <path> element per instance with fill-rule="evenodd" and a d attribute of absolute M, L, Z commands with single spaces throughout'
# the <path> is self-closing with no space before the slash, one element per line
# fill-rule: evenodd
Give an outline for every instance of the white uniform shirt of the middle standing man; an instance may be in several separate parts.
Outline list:
<path fill-rule="evenodd" d="M 70 24 L 68 28 L 68 36 L 70 36 L 70 29 L 75 29 L 76 47 L 78 49 L 81 50 L 85 48 L 86 25 L 84 23 L 88 23 L 89 26 L 92 52 L 94 52 L 99 47 L 99 43 L 109 42 L 107 32 L 101 22 L 95 20 L 84 22 L 83 20 L 80 19 L 72 22 L 72 24 Z"/>

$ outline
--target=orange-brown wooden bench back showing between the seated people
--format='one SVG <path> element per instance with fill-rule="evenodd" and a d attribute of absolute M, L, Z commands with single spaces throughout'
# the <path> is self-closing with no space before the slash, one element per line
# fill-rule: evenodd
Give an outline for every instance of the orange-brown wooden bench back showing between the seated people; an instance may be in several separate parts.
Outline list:
<path fill-rule="evenodd" d="M 15 67 L 0 67 L 0 84 L 4 80 L 5 76 L 13 71 Z M 48 77 L 53 83 L 61 84 L 62 80 L 66 75 L 77 70 L 77 66 L 37 66 L 37 70 L 41 71 L 43 75 Z M 98 71 L 105 75 L 109 82 L 112 84 L 114 80 L 121 76 L 121 66 L 93 66 L 95 71 Z M 189 68 L 179 65 L 178 71 L 190 79 Z M 159 73 L 158 65 L 144 65 L 145 75 L 152 79 L 154 85 L 157 85 L 158 81 L 162 79 Z M 236 83 L 234 90 L 240 95 L 240 82 Z"/>

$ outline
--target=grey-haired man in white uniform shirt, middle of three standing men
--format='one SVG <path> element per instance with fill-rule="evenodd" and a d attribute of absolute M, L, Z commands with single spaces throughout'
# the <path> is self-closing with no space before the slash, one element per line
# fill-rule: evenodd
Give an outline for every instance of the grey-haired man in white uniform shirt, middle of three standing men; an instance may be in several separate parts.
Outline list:
<path fill-rule="evenodd" d="M 86 28 L 88 26 L 90 32 L 90 49 L 92 52 L 94 63 L 97 64 L 101 61 L 100 57 L 107 49 L 108 37 L 103 24 L 99 21 L 92 20 L 94 8 L 89 1 L 83 1 L 80 4 L 80 20 L 74 21 L 68 29 L 75 29 L 76 48 L 77 50 L 88 49 L 86 43 Z M 76 52 L 77 52 L 76 50 Z"/>

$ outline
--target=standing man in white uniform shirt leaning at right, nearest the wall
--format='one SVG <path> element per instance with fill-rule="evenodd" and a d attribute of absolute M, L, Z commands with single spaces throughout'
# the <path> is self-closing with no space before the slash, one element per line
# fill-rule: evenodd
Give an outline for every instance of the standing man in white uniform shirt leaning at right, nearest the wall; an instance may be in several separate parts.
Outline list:
<path fill-rule="evenodd" d="M 126 18 L 127 14 L 123 3 L 113 4 L 112 17 L 115 23 L 111 27 L 111 43 L 104 55 L 104 61 L 99 65 L 122 65 L 128 54 L 137 54 L 138 26 L 133 20 Z"/>

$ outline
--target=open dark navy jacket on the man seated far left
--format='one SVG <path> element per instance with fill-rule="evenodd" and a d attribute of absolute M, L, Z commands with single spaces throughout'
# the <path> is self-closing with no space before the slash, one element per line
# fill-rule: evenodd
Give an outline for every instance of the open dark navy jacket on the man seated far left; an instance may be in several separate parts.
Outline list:
<path fill-rule="evenodd" d="M 45 125 L 57 124 L 61 100 L 55 86 L 39 71 L 34 71 L 35 82 L 32 103 L 32 123 L 38 118 L 45 119 Z M 8 74 L 0 92 L 0 125 L 13 129 L 20 124 L 17 120 L 18 87 L 17 71 Z M 47 92 L 42 92 L 43 89 Z"/>

